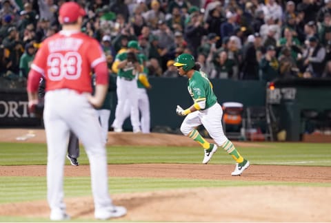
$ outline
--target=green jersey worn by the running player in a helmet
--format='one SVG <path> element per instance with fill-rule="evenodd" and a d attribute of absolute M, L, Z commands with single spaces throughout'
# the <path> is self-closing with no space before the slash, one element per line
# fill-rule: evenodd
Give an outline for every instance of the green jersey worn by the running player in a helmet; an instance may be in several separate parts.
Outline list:
<path fill-rule="evenodd" d="M 194 74 L 188 80 L 188 92 L 194 103 L 205 100 L 205 108 L 201 110 L 208 109 L 217 103 L 217 97 L 212 91 L 212 83 L 203 72 L 194 71 Z"/>

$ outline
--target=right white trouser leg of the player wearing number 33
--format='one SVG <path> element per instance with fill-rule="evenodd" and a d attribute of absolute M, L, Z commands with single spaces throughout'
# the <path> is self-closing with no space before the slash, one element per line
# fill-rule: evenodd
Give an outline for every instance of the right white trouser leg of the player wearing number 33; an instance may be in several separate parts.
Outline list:
<path fill-rule="evenodd" d="M 108 209 L 112 200 L 108 193 L 107 155 L 104 137 L 98 120 L 97 110 L 94 109 L 85 95 L 77 94 L 76 105 L 72 107 L 71 116 L 68 117 L 70 129 L 83 143 L 88 160 L 94 198 L 94 210 Z"/>

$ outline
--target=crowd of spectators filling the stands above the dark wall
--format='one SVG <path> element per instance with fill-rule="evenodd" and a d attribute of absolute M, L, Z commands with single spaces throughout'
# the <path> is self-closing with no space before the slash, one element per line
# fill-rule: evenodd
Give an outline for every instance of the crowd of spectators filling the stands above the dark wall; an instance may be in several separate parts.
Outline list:
<path fill-rule="evenodd" d="M 24 81 L 39 45 L 60 30 L 64 0 L 1 0 L 0 77 Z M 135 40 L 149 76 L 179 77 L 193 54 L 209 78 L 331 77 L 331 0 L 77 0 L 82 32 L 112 63 Z"/>

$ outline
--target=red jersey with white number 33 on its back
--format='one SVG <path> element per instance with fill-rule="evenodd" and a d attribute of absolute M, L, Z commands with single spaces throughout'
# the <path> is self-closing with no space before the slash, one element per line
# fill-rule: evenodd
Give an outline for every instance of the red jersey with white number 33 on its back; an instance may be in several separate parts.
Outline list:
<path fill-rule="evenodd" d="M 54 34 L 43 42 L 31 68 L 48 80 L 46 91 L 70 88 L 92 92 L 90 72 L 106 58 L 97 40 L 81 32 L 70 32 L 70 38 L 64 38 L 66 32 Z"/>

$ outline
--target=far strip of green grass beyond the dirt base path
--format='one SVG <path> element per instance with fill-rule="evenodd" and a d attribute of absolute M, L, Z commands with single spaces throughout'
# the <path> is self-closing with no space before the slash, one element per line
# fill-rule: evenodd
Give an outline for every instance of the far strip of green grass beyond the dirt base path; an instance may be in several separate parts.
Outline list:
<path fill-rule="evenodd" d="M 257 143 L 254 143 L 256 145 Z M 260 142 L 260 147 L 237 147 L 252 164 L 331 166 L 329 143 Z M 0 143 L 0 165 L 46 164 L 45 144 Z M 200 163 L 200 147 L 109 147 L 110 164 L 130 163 Z M 224 154 L 225 155 L 225 154 Z M 81 149 L 81 164 L 88 164 Z M 232 164 L 228 156 L 217 156 L 214 164 Z"/>

